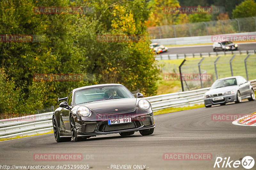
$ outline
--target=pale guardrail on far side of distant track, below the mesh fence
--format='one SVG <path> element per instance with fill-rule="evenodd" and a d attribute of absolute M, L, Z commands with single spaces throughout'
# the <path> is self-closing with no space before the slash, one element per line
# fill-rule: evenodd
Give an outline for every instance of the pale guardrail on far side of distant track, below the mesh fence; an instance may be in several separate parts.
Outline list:
<path fill-rule="evenodd" d="M 213 43 L 212 36 L 225 36 L 234 39 L 235 36 L 249 36 L 255 35 L 256 32 L 241 32 L 234 34 L 220 34 L 220 35 L 206 35 L 196 37 L 179 37 L 179 38 L 167 38 L 167 39 L 151 39 L 152 43 L 158 43 L 162 45 L 185 45 L 185 44 L 200 44 L 200 43 Z"/>

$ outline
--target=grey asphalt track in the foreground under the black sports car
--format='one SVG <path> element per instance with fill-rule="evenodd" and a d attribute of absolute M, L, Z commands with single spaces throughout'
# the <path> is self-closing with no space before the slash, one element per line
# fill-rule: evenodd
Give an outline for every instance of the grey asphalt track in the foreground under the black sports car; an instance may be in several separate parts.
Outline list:
<path fill-rule="evenodd" d="M 142 169 L 145 166 L 147 170 L 223 169 L 213 168 L 217 156 L 223 159 L 230 157 L 234 161 L 241 161 L 245 156 L 256 159 L 256 127 L 238 126 L 232 121 L 212 121 L 212 114 L 251 114 L 256 111 L 255 106 L 256 101 L 244 100 L 238 104 L 156 115 L 156 128 L 150 136 L 135 132 L 130 137 L 101 135 L 76 143 L 57 143 L 53 134 L 46 134 L 3 141 L 0 142 L 1 165 L 89 165 L 90 169 L 114 169 L 113 165 L 131 165 L 131 169 L 135 165 L 139 169 L 137 165 L 142 165 Z M 34 160 L 33 155 L 38 153 L 81 153 L 83 160 Z M 164 160 L 164 153 L 211 153 L 212 158 Z M 244 168 L 240 165 L 226 169 Z M 256 165 L 252 169 L 256 169 Z"/>

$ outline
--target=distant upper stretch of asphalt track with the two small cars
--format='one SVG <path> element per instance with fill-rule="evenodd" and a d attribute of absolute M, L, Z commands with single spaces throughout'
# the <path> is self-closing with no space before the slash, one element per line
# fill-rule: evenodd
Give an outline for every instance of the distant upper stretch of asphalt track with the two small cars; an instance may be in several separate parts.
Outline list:
<path fill-rule="evenodd" d="M 256 50 L 256 43 L 238 44 L 238 50 Z M 168 51 L 161 54 L 185 54 L 185 53 L 209 53 L 213 52 L 212 45 L 192 46 L 192 47 L 168 47 Z"/>

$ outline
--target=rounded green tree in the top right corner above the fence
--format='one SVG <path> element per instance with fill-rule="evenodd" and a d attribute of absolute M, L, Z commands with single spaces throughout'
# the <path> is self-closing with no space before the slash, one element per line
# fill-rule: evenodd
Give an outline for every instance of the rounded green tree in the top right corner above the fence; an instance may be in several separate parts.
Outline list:
<path fill-rule="evenodd" d="M 256 16 L 256 3 L 253 0 L 245 0 L 233 10 L 233 18 L 245 18 Z"/>

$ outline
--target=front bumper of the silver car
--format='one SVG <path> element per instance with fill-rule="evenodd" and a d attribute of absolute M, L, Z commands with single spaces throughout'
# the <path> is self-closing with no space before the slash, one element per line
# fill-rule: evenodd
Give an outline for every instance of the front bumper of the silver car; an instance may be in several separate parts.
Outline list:
<path fill-rule="evenodd" d="M 213 101 L 212 99 L 215 98 L 215 97 L 223 97 L 223 99 Z M 215 97 L 204 98 L 204 105 L 205 106 L 210 106 L 210 105 L 214 105 L 214 104 L 236 102 L 236 94 L 224 95 L 224 96 L 215 96 Z"/>

